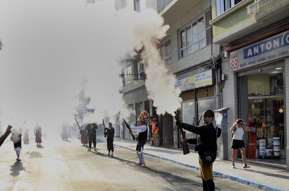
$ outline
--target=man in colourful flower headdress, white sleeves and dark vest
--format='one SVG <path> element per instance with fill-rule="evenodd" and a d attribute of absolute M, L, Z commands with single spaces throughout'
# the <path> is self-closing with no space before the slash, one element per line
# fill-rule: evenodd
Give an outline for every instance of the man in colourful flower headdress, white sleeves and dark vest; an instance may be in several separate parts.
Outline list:
<path fill-rule="evenodd" d="M 143 155 L 143 148 L 145 143 L 147 142 L 147 139 L 149 137 L 149 131 L 146 126 L 147 121 L 149 120 L 149 114 L 147 111 L 143 111 L 140 113 L 140 116 L 138 117 L 138 121 L 140 121 L 139 127 L 129 126 L 129 124 L 126 123 L 126 127 L 136 132 L 136 136 L 138 135 L 138 143 L 136 145 L 136 153 L 138 155 L 138 158 L 140 160 L 139 163 L 135 164 L 136 166 L 144 167 L 145 161 L 144 161 L 144 155 Z M 133 132 L 129 132 L 133 135 Z M 137 134 L 138 133 L 138 134 Z"/>

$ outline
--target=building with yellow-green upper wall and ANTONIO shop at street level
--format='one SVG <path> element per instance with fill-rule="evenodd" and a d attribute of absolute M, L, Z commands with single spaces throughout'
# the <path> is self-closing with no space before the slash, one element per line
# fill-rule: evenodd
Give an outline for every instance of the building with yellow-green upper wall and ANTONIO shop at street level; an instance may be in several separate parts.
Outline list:
<path fill-rule="evenodd" d="M 227 158 L 229 128 L 241 118 L 251 127 L 244 135 L 248 160 L 289 169 L 288 10 L 286 0 L 212 1 L 213 42 L 226 47 L 221 106 L 230 108 Z"/>

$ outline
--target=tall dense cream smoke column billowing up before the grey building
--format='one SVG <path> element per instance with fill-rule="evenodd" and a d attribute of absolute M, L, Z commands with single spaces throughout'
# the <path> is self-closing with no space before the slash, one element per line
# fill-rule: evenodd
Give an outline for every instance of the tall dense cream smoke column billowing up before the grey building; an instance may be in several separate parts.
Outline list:
<path fill-rule="evenodd" d="M 164 25 L 164 19 L 153 10 L 145 11 L 148 17 L 141 17 L 139 23 L 134 27 L 134 38 L 136 39 L 137 50 L 144 46 L 144 53 L 147 54 L 147 68 L 145 68 L 145 86 L 149 92 L 149 99 L 157 108 L 158 115 L 169 113 L 174 116 L 174 111 L 181 107 L 180 89 L 175 89 L 176 78 L 168 74 L 168 69 L 157 50 L 157 43 L 169 29 Z M 149 21 L 149 22 L 148 22 Z M 146 61 L 144 61 L 146 62 Z"/>

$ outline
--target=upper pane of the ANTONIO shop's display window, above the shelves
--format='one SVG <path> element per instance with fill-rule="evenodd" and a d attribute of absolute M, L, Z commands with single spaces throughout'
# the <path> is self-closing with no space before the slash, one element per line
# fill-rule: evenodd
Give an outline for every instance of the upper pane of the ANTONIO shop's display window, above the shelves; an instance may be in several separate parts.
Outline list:
<path fill-rule="evenodd" d="M 283 74 L 248 75 L 249 97 L 283 94 Z"/>

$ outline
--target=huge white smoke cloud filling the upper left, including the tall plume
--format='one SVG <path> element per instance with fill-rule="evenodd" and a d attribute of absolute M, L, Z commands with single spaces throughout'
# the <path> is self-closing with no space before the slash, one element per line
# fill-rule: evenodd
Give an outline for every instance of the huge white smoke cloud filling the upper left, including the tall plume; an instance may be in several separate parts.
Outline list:
<path fill-rule="evenodd" d="M 83 88 L 90 98 L 87 107 L 94 113 L 83 116 L 82 123 L 101 123 L 105 116 L 113 119 L 119 113 L 129 116 L 119 93 L 120 62 L 124 55 L 134 57 L 133 47 L 140 42 L 150 55 L 146 86 L 158 113 L 172 113 L 180 106 L 175 77 L 167 75 L 155 48 L 168 29 L 155 10 L 116 12 L 111 0 L 84 4 L 79 0 L 1 1 L 2 129 L 12 124 L 11 117 L 13 123 L 27 120 L 27 128 L 39 123 L 47 131 L 73 124 Z"/>

